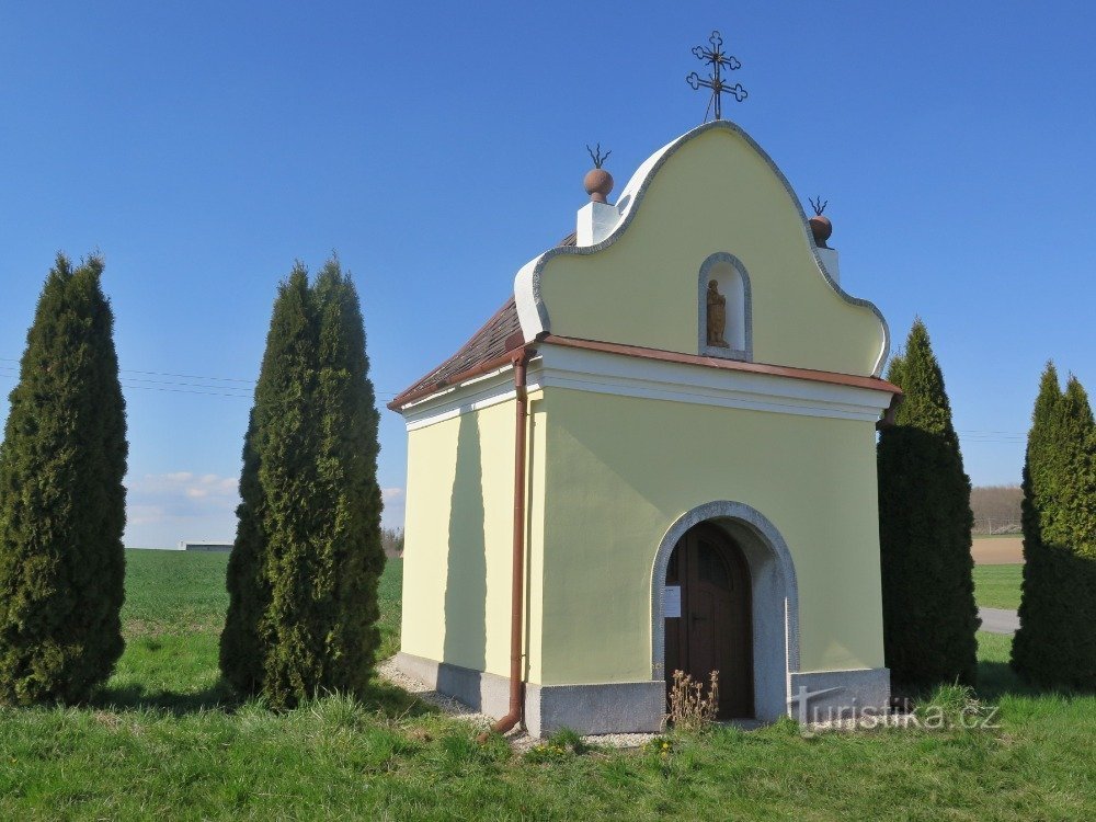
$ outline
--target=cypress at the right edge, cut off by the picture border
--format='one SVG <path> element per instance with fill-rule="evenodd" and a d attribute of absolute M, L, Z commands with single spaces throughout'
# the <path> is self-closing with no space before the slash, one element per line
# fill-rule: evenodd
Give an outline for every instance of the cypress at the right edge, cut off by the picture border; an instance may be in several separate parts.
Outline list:
<path fill-rule="evenodd" d="M 1096 425 L 1081 383 L 1048 364 L 1024 465 L 1024 583 L 1012 665 L 1046 686 L 1096 687 Z"/>

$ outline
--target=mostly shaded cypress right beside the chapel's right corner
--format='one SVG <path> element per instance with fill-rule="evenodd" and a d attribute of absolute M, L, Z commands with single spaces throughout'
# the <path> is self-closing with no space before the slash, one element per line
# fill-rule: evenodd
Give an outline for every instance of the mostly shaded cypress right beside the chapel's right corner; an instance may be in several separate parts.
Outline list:
<path fill-rule="evenodd" d="M 900 689 L 973 684 L 980 625 L 970 480 L 944 375 L 918 319 L 888 379 L 905 398 L 879 437 L 883 647 Z"/>

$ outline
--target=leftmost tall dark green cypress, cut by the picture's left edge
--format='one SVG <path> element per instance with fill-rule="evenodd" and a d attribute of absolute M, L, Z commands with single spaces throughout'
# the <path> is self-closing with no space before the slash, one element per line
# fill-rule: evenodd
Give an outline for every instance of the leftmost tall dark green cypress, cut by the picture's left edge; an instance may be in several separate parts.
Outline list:
<path fill-rule="evenodd" d="M 80 703 L 122 654 L 125 401 L 103 261 L 64 255 L 0 446 L 0 703 Z"/>

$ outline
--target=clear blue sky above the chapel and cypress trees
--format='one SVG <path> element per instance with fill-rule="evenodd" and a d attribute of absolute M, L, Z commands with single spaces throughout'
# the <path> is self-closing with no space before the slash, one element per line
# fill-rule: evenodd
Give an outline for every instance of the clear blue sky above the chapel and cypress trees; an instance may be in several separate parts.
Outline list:
<path fill-rule="evenodd" d="M 701 122 L 713 27 L 750 92 L 724 116 L 830 201 L 843 285 L 895 340 L 924 318 L 973 481 L 1017 482 L 1046 359 L 1096 390 L 1087 2 L 4 3 L 0 392 L 55 253 L 99 249 L 127 544 L 231 539 L 294 260 L 354 273 L 387 401 L 573 230 L 586 142 L 619 186 Z M 385 410 L 393 525 L 404 446 Z"/>

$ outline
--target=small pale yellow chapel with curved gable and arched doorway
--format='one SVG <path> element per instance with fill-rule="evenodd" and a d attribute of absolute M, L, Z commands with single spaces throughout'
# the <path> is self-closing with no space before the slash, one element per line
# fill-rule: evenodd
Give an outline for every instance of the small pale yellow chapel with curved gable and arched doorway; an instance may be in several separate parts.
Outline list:
<path fill-rule="evenodd" d="M 728 719 L 886 707 L 886 322 L 732 123 L 607 193 L 390 404 L 398 665 L 534 734 L 658 730 L 677 670 Z"/>

